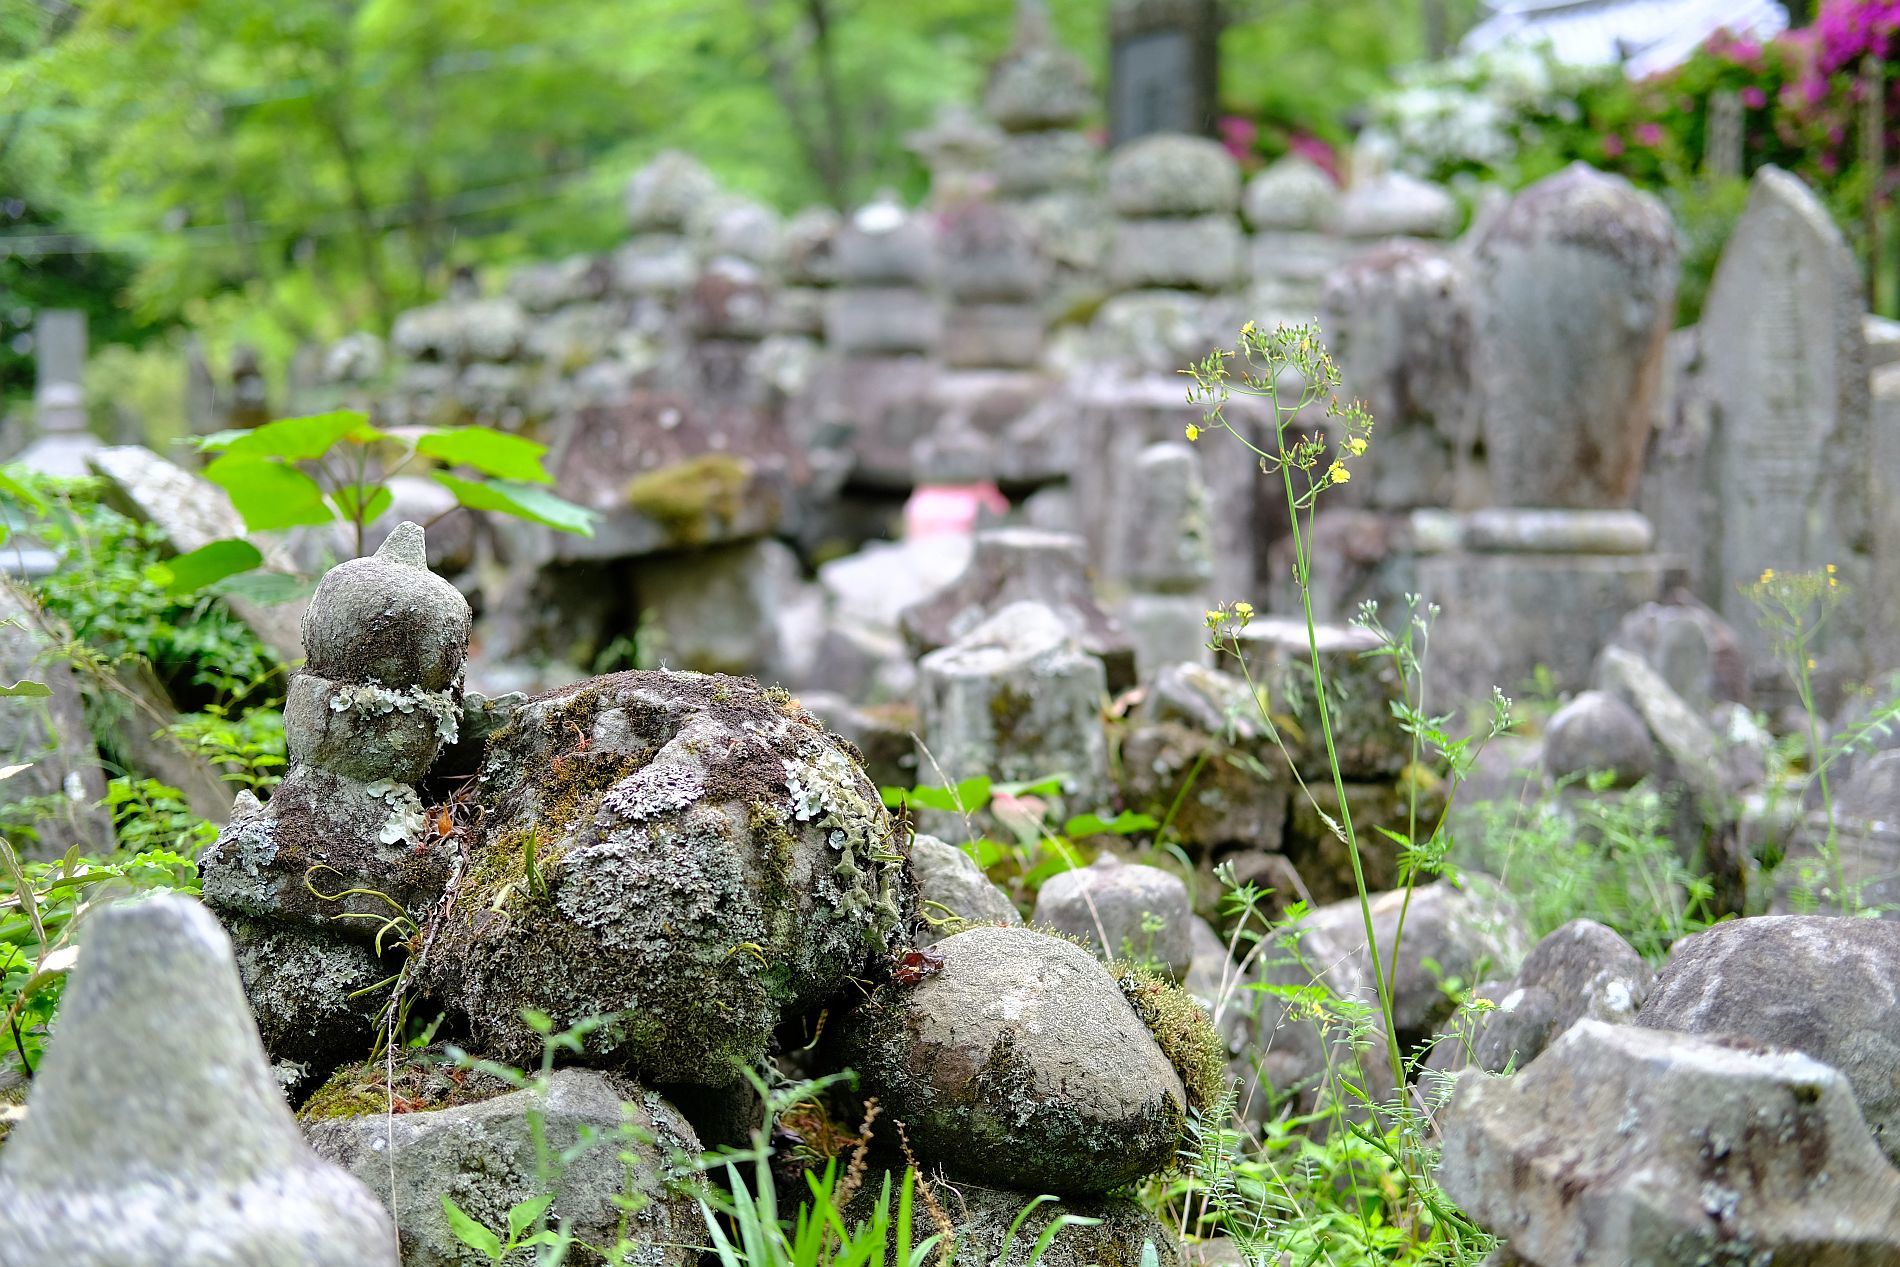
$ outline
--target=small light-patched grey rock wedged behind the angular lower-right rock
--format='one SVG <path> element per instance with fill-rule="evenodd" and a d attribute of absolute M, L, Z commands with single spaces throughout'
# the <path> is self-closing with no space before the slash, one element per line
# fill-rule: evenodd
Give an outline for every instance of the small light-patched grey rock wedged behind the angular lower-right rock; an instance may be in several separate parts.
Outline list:
<path fill-rule="evenodd" d="M 1431 1066 L 1522 1069 L 1585 1016 L 1611 1026 L 1636 1020 L 1655 978 L 1613 929 L 1571 919 L 1524 955 L 1516 976 L 1484 992 L 1497 1011 L 1478 1014 L 1469 1035 L 1440 1035 Z"/>

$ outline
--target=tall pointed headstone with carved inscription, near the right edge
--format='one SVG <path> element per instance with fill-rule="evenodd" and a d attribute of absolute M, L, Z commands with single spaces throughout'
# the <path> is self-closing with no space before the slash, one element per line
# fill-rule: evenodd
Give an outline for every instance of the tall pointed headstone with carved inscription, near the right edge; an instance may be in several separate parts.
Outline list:
<path fill-rule="evenodd" d="M 1854 256 L 1826 207 L 1796 177 L 1756 173 L 1748 205 L 1702 304 L 1699 393 L 1710 405 L 1721 517 L 1720 576 L 1704 593 L 1759 655 L 1740 585 L 1763 568 L 1835 564 L 1854 591 L 1868 574 L 1875 479 Z M 1864 595 L 1862 595 L 1864 596 Z M 1849 608 L 1854 634 L 1866 615 Z M 1839 650 L 1847 650 L 1839 636 Z M 1858 652 L 1830 657 L 1858 676 Z"/>

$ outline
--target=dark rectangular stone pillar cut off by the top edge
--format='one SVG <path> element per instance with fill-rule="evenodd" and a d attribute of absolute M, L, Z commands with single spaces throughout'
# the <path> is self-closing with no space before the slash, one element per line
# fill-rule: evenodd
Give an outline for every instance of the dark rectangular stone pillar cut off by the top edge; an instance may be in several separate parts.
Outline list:
<path fill-rule="evenodd" d="M 1108 15 L 1112 144 L 1212 135 L 1220 110 L 1218 0 L 1117 0 Z"/>

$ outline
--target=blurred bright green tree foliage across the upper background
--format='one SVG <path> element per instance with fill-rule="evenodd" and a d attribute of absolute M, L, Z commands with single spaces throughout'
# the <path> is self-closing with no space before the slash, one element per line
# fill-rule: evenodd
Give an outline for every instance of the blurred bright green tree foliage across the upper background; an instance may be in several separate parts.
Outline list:
<path fill-rule="evenodd" d="M 1239 0 L 1224 91 L 1330 139 L 1446 4 Z M 1100 78 L 1108 0 L 1047 0 Z M 1398 17 L 1398 21 L 1395 21 Z M 40 306 L 266 363 L 388 329 L 452 268 L 604 249 L 676 146 L 783 209 L 922 192 L 1011 0 L 0 0 L 0 391 Z M 1436 27 L 1434 27 L 1436 23 Z M 1281 133 L 1264 141 L 1269 148 Z"/>

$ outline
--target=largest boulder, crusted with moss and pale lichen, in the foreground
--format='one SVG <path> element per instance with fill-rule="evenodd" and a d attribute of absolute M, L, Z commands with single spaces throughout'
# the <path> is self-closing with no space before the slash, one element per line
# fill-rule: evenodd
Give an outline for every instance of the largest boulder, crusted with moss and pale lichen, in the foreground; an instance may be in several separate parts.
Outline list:
<path fill-rule="evenodd" d="M 878 792 L 796 701 L 623 672 L 521 705 L 481 769 L 483 836 L 428 973 L 484 1054 L 726 1085 L 781 1016 L 889 954 L 908 878 Z"/>

